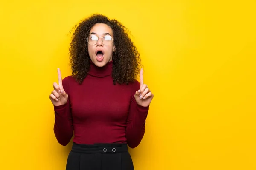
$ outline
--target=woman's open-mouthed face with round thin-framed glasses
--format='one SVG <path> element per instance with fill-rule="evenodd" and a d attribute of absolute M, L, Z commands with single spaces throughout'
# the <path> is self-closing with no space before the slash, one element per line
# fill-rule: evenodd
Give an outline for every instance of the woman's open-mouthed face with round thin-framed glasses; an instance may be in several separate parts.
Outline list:
<path fill-rule="evenodd" d="M 112 60 L 113 51 L 115 51 L 114 40 L 112 38 L 113 31 L 106 24 L 97 23 L 90 30 L 87 41 L 88 53 L 90 59 L 96 66 L 103 67 Z"/>

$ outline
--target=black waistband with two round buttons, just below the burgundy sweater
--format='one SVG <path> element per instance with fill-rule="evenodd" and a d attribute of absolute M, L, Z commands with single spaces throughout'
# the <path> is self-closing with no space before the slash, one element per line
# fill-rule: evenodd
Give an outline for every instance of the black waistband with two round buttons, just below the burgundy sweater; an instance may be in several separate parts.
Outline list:
<path fill-rule="evenodd" d="M 71 151 L 77 153 L 117 153 L 128 152 L 128 147 L 127 144 L 119 143 L 77 144 L 73 142 Z"/>

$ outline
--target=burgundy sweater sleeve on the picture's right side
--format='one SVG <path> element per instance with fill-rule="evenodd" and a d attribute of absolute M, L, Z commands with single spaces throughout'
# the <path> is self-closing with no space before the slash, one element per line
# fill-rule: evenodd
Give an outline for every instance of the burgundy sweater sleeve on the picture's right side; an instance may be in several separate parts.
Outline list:
<path fill-rule="evenodd" d="M 149 106 L 143 107 L 137 104 L 134 94 L 140 89 L 140 83 L 136 81 L 132 88 L 131 103 L 127 118 L 126 139 L 131 148 L 137 147 L 145 133 L 145 122 L 148 116 Z"/>

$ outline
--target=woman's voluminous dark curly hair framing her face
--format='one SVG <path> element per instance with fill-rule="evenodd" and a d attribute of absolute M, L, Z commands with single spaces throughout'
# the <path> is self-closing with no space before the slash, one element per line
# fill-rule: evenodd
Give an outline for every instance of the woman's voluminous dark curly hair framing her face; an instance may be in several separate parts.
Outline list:
<path fill-rule="evenodd" d="M 87 76 L 90 69 L 90 57 L 88 54 L 87 40 L 91 28 L 96 23 L 105 23 L 113 30 L 116 57 L 113 58 L 113 84 L 132 82 L 140 73 L 140 54 L 134 43 L 128 37 L 128 29 L 115 19 L 101 14 L 93 14 L 76 25 L 70 43 L 70 64 L 72 76 L 80 84 Z"/>

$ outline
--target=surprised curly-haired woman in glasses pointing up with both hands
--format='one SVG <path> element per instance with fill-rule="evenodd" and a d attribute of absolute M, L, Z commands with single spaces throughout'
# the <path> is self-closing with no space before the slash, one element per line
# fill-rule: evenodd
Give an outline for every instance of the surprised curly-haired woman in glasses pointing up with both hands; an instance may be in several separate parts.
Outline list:
<path fill-rule="evenodd" d="M 140 144 L 154 95 L 125 31 L 118 21 L 95 14 L 73 33 L 72 76 L 62 80 L 58 69 L 49 96 L 56 139 L 65 146 L 74 134 L 66 170 L 134 170 L 128 146 Z"/>

